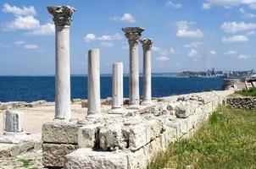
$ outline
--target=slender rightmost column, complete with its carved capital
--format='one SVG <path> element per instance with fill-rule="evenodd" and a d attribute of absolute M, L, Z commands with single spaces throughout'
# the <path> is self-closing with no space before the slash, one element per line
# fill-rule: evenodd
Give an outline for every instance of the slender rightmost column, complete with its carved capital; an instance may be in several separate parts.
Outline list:
<path fill-rule="evenodd" d="M 152 39 L 141 40 L 143 48 L 143 99 L 142 105 L 151 105 L 151 49 Z"/>

